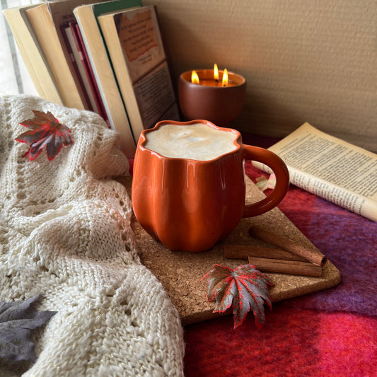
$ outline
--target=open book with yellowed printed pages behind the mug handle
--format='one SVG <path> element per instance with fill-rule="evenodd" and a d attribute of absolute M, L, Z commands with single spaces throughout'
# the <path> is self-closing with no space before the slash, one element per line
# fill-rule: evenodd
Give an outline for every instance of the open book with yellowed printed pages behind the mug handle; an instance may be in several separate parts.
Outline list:
<path fill-rule="evenodd" d="M 305 123 L 269 147 L 289 169 L 291 183 L 377 221 L 377 154 Z M 272 173 L 262 163 L 257 168 Z"/>

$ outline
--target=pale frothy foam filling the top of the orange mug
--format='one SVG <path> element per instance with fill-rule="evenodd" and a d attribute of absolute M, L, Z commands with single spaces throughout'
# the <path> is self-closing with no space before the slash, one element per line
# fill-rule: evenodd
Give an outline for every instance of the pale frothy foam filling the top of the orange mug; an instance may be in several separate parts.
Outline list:
<path fill-rule="evenodd" d="M 214 129 L 203 123 L 164 124 L 146 134 L 145 147 L 165 157 L 209 161 L 234 151 L 236 137 L 233 132 Z"/>

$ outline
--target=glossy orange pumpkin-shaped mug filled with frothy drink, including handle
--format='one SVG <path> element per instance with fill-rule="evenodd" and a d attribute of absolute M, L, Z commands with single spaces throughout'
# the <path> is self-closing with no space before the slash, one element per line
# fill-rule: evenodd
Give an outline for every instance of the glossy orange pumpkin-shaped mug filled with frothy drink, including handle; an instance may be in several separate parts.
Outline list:
<path fill-rule="evenodd" d="M 265 163 L 277 184 L 245 205 L 243 161 Z M 236 129 L 207 120 L 164 120 L 141 132 L 134 159 L 132 207 L 156 240 L 193 253 L 224 239 L 243 217 L 263 214 L 282 201 L 289 172 L 279 156 L 242 143 Z"/>

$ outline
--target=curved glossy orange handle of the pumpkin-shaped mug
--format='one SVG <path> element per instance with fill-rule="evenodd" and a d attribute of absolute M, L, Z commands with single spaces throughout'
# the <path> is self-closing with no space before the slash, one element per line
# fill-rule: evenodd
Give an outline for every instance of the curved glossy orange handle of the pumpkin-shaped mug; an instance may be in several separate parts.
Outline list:
<path fill-rule="evenodd" d="M 289 187 L 289 171 L 282 158 L 272 151 L 260 148 L 259 146 L 245 144 L 242 145 L 242 148 L 244 160 L 253 160 L 264 163 L 272 169 L 276 176 L 276 186 L 274 187 L 274 190 L 265 197 L 265 199 L 260 200 L 260 202 L 245 205 L 243 208 L 243 217 L 258 216 L 264 214 L 282 202 Z"/>

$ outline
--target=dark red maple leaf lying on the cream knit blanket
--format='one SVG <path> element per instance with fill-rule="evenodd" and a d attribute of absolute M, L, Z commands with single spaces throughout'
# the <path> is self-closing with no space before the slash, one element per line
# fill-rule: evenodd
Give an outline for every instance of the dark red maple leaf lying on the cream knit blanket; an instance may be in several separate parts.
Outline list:
<path fill-rule="evenodd" d="M 59 123 L 50 111 L 47 113 L 32 111 L 35 117 L 20 123 L 30 130 L 23 132 L 15 140 L 30 144 L 23 157 L 28 157 L 30 161 L 33 161 L 46 146 L 47 158 L 51 161 L 57 156 L 62 146 L 73 143 L 71 130 L 65 124 Z"/>

